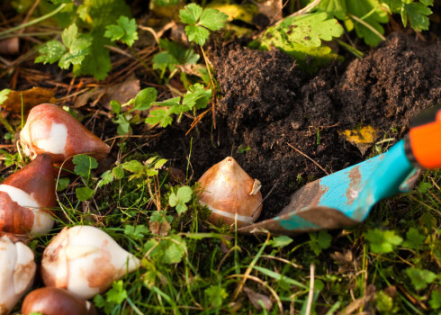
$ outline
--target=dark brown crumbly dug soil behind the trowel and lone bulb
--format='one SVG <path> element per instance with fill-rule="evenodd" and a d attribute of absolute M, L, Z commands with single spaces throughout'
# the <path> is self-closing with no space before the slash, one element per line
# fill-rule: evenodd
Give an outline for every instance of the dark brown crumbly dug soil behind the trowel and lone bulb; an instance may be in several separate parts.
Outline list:
<path fill-rule="evenodd" d="M 262 182 L 261 219 L 272 218 L 297 188 L 326 175 L 324 170 L 336 172 L 372 153 L 363 156 L 338 130 L 370 124 L 381 137 L 400 139 L 411 117 L 441 103 L 440 51 L 439 40 L 394 33 L 365 58 L 336 62 L 310 76 L 278 50 L 237 42 L 214 47 L 210 59 L 222 95 L 215 128 L 205 118 L 184 137 L 191 121 L 183 121 L 151 148 L 182 169 L 192 148 L 195 180 L 223 158 L 235 157 Z"/>

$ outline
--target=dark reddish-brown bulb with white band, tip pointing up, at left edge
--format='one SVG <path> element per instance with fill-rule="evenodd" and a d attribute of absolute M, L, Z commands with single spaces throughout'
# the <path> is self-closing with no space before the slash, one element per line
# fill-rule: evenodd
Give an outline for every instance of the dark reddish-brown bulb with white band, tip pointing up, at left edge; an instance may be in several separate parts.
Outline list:
<path fill-rule="evenodd" d="M 52 159 L 41 154 L 0 184 L 0 231 L 14 234 L 46 234 L 54 219 L 55 172 Z"/>

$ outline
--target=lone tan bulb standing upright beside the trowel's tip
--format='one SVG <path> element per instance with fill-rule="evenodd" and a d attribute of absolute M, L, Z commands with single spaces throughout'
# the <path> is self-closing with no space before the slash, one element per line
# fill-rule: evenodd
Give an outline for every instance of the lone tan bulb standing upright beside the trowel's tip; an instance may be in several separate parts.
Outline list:
<path fill-rule="evenodd" d="M 251 178 L 233 157 L 211 166 L 198 181 L 203 189 L 199 202 L 211 210 L 213 224 L 223 221 L 238 227 L 252 224 L 262 211 L 260 182 Z"/>

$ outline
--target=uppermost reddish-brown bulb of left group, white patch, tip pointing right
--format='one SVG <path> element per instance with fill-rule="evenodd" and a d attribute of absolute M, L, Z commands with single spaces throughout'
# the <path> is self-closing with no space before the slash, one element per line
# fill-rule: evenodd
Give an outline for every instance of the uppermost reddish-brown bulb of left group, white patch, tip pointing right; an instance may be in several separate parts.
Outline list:
<path fill-rule="evenodd" d="M 84 153 L 101 160 L 110 152 L 103 140 L 70 113 L 51 103 L 41 103 L 31 109 L 20 132 L 20 141 L 26 155 L 33 158 L 49 153 L 56 165 L 77 154 Z M 67 162 L 64 167 L 72 168 L 72 164 Z"/>

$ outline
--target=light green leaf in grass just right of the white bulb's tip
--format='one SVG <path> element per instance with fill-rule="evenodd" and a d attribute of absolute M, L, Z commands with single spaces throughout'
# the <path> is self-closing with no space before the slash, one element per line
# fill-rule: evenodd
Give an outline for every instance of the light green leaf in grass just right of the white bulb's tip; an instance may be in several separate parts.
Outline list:
<path fill-rule="evenodd" d="M 149 256 L 159 264 L 176 264 L 181 262 L 186 251 L 187 246 L 184 239 L 178 235 L 172 235 L 161 239 L 157 246 L 150 251 Z"/>

